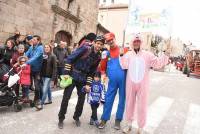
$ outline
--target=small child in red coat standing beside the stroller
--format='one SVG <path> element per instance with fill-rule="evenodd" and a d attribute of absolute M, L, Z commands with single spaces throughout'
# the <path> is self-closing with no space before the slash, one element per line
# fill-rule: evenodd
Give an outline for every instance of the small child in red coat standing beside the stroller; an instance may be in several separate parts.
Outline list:
<path fill-rule="evenodd" d="M 21 73 L 19 74 L 19 76 L 20 76 L 19 84 L 22 87 L 22 100 L 23 101 L 29 100 L 29 88 L 31 85 L 31 78 L 30 78 L 31 67 L 30 67 L 30 65 L 23 66 L 27 60 L 28 60 L 28 58 L 26 56 L 20 56 L 18 59 L 18 62 L 21 67 L 18 67 L 18 69 L 17 69 L 18 73 L 21 71 Z"/>

